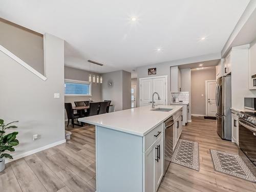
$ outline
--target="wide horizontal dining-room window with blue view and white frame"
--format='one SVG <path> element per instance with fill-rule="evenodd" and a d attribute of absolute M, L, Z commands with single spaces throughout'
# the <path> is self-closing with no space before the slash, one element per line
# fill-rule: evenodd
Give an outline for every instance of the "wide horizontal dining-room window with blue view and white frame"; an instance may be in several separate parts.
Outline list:
<path fill-rule="evenodd" d="M 65 96 L 91 96 L 91 83 L 65 79 Z"/>

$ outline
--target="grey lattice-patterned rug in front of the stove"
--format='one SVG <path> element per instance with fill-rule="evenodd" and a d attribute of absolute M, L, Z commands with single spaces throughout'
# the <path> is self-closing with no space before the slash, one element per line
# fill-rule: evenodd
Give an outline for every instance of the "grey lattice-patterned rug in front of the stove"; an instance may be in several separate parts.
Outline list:
<path fill-rule="evenodd" d="M 239 155 L 217 150 L 210 150 L 210 153 L 214 169 L 217 172 L 256 182 L 255 176 L 251 173 L 250 169 Z"/>

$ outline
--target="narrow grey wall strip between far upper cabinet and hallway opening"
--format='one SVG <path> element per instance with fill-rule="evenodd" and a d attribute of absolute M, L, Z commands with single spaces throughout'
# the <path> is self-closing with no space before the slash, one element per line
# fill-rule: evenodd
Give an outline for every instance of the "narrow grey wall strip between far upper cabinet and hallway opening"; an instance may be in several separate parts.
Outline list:
<path fill-rule="evenodd" d="M 187 120 L 191 120 L 191 69 L 181 69 L 181 91 L 189 93 L 189 112 Z"/>

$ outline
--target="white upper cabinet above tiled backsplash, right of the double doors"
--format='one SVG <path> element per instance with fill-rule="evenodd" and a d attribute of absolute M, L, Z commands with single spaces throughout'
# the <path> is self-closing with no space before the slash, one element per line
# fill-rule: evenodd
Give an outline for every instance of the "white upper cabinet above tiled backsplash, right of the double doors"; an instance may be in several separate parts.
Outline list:
<path fill-rule="evenodd" d="M 178 66 L 170 68 L 170 92 L 181 92 L 181 74 Z"/>

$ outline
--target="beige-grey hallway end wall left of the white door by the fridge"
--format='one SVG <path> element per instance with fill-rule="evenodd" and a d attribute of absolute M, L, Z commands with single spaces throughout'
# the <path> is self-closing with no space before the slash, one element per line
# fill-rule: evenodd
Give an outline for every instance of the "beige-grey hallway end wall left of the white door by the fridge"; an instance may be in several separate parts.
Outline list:
<path fill-rule="evenodd" d="M 191 114 L 205 115 L 205 81 L 215 79 L 215 68 L 191 71 Z"/>

